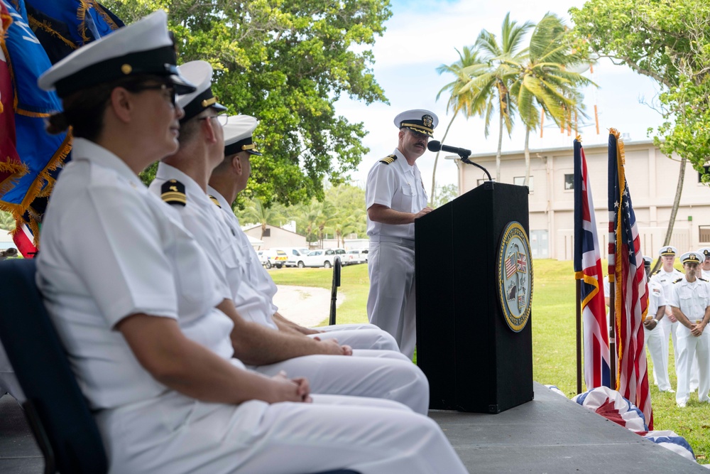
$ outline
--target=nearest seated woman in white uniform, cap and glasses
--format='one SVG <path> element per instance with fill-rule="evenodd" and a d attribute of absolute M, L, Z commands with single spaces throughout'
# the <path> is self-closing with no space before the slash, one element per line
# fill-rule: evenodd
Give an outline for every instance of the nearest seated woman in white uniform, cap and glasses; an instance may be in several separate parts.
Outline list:
<path fill-rule="evenodd" d="M 406 406 L 311 395 L 307 379 L 233 357 L 223 282 L 138 178 L 178 147 L 175 91 L 192 86 L 175 59 L 159 11 L 38 81 L 63 102 L 50 131 L 75 134 L 45 214 L 38 285 L 109 472 L 465 473 L 434 421 Z"/>

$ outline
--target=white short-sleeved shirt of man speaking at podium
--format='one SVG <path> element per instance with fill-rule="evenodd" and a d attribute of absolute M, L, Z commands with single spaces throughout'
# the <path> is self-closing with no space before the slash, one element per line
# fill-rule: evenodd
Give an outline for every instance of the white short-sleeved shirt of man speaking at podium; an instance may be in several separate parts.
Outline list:
<path fill-rule="evenodd" d="M 380 204 L 402 212 L 419 212 L 427 207 L 427 192 L 422 174 L 415 163 L 410 166 L 398 150 L 397 159 L 390 164 L 377 161 L 367 175 L 365 188 L 366 209 Z M 367 219 L 367 235 L 386 235 L 414 239 L 414 224 L 383 224 Z"/>

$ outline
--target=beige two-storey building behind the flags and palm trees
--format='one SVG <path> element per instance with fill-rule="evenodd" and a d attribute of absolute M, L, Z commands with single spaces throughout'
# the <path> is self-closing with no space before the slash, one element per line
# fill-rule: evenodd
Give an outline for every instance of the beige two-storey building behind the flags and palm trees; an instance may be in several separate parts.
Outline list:
<path fill-rule="evenodd" d="M 584 141 L 582 142 L 584 146 Z M 667 232 L 680 170 L 680 158 L 668 158 L 652 141 L 627 141 L 626 181 L 636 215 L 641 250 L 657 257 Z M 594 213 L 605 258 L 608 241 L 607 146 L 584 146 Z M 572 259 L 574 253 L 574 150 L 569 148 L 530 151 L 530 247 L 533 257 Z M 459 168 L 459 193 L 466 193 L 486 180 L 483 171 L 454 159 Z M 471 161 L 496 174 L 495 153 L 476 154 Z M 523 151 L 502 153 L 501 182 L 523 184 Z M 710 186 L 700 183 L 699 173 L 688 163 L 683 193 L 670 244 L 683 253 L 710 246 Z"/>

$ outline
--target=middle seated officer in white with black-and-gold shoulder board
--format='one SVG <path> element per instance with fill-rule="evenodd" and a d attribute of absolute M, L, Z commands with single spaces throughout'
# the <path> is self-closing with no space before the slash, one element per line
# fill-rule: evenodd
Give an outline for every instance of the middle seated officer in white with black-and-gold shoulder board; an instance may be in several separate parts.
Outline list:
<path fill-rule="evenodd" d="M 340 346 L 337 340 L 315 340 L 300 333 L 245 321 L 234 311 L 245 282 L 231 230 L 222 211 L 207 195 L 212 168 L 224 158 L 224 131 L 219 113 L 224 107 L 212 95 L 212 67 L 192 61 L 178 68 L 180 74 L 197 85 L 197 90 L 178 97 L 185 109 L 180 119 L 180 149 L 158 165 L 150 190 L 174 206 L 182 222 L 202 245 L 220 281 L 229 289 L 224 296 L 232 306 L 234 356 L 264 375 L 285 371 L 307 377 L 311 389 L 320 394 L 376 397 L 402 402 L 417 413 L 427 414 L 429 384 L 419 367 L 399 352 L 356 350 Z M 226 119 L 226 117 L 224 117 Z M 168 212 L 168 206 L 165 206 Z M 173 211 L 172 209 L 170 211 Z M 271 309 L 268 301 L 263 306 Z M 263 311 L 262 311 L 263 313 Z M 353 353 L 361 357 L 349 357 Z M 380 360 L 376 357 L 398 359 Z"/>

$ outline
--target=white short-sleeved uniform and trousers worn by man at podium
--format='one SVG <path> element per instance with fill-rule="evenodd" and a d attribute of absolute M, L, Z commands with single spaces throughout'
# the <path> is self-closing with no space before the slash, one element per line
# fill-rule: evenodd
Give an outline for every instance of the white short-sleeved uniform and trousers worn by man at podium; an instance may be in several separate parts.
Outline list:
<path fill-rule="evenodd" d="M 365 188 L 366 209 L 379 204 L 400 212 L 420 212 L 427 193 L 416 163 L 395 149 L 392 163 L 378 161 L 370 169 Z M 413 357 L 417 342 L 414 274 L 414 224 L 391 225 L 367 219 L 370 238 L 368 274 L 370 323 L 394 336 L 400 350 Z"/>

